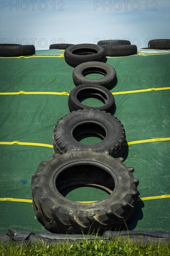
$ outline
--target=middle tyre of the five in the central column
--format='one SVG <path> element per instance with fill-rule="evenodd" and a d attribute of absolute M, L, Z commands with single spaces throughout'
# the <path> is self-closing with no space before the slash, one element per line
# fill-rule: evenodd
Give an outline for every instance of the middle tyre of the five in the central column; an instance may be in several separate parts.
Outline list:
<path fill-rule="evenodd" d="M 81 99 L 85 97 L 96 97 L 103 101 L 104 105 L 99 107 L 89 107 L 81 103 Z M 68 98 L 68 107 L 70 112 L 78 109 L 98 109 L 110 112 L 113 109 L 113 94 L 106 88 L 96 84 L 82 84 L 72 89 Z"/>

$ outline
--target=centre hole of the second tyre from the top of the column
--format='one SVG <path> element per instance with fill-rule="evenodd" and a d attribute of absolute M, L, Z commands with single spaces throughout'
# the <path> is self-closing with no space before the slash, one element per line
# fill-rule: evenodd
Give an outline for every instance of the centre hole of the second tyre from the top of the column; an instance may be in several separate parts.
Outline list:
<path fill-rule="evenodd" d="M 101 67 L 87 67 L 82 70 L 82 75 L 90 79 L 101 79 L 107 75 L 107 71 Z"/>

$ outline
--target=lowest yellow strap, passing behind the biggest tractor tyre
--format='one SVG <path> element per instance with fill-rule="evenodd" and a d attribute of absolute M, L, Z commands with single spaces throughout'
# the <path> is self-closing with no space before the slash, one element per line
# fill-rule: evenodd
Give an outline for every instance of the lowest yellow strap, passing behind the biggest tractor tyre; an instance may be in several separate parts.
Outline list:
<path fill-rule="evenodd" d="M 170 198 L 170 195 L 154 195 L 154 196 L 147 196 L 138 198 L 137 201 L 145 201 L 145 200 L 153 200 L 153 199 L 163 199 L 163 198 Z M 33 202 L 31 199 L 19 199 L 19 198 L 0 198 L 0 201 L 13 201 L 13 202 Z M 92 203 L 98 201 L 76 201 L 80 203 Z"/>

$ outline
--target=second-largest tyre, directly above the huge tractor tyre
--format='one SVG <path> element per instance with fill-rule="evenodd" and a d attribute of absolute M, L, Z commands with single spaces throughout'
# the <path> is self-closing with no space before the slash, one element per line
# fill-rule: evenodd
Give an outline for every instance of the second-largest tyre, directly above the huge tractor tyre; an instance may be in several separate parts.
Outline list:
<path fill-rule="evenodd" d="M 83 144 L 85 137 L 97 136 L 102 141 Z M 96 152 L 109 152 L 113 157 L 122 156 L 125 149 L 123 124 L 110 113 L 99 110 L 77 110 L 62 117 L 53 132 L 53 148 L 60 154 L 70 149 L 83 151 L 88 148 Z"/>

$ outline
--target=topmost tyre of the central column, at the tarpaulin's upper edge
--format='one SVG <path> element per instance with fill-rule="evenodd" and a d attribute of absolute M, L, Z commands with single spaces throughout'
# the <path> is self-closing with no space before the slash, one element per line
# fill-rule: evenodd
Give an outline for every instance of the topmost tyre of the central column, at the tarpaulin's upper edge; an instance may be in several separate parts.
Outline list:
<path fill-rule="evenodd" d="M 95 44 L 77 44 L 68 47 L 64 53 L 68 65 L 76 67 L 87 61 L 105 62 L 105 49 Z"/>

